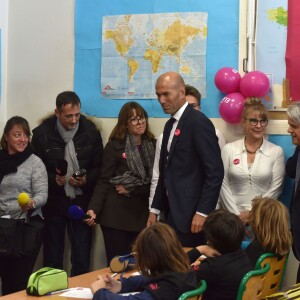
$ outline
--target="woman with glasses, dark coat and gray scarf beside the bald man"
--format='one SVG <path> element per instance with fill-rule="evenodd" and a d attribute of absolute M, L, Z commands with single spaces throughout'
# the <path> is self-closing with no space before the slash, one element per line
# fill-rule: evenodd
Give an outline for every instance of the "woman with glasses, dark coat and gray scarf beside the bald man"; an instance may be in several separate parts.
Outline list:
<path fill-rule="evenodd" d="M 103 232 L 107 264 L 130 253 L 146 226 L 155 153 L 147 112 L 136 102 L 123 105 L 104 149 L 101 174 L 89 204 Z M 93 225 L 92 220 L 88 220 Z"/>

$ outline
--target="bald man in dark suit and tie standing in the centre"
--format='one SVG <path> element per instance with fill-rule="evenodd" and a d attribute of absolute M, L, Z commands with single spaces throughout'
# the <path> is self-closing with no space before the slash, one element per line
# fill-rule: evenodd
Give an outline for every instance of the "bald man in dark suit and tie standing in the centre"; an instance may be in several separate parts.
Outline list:
<path fill-rule="evenodd" d="M 212 122 L 188 105 L 178 73 L 162 74 L 155 89 L 172 118 L 163 132 L 160 176 L 147 224 L 163 212 L 182 245 L 197 246 L 204 243 L 202 226 L 215 209 L 224 176 L 218 138 Z"/>

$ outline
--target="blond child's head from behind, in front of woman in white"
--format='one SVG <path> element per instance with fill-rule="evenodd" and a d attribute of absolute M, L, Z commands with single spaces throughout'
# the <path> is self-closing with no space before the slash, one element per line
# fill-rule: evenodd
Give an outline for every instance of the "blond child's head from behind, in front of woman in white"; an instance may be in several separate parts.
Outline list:
<path fill-rule="evenodd" d="M 268 252 L 284 255 L 292 244 L 289 213 L 283 203 L 267 197 L 252 200 L 250 212 L 252 230 Z"/>

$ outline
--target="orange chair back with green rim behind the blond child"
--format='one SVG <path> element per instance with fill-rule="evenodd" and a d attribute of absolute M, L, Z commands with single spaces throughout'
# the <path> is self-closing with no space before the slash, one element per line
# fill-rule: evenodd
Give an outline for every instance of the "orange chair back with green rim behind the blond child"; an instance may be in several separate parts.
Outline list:
<path fill-rule="evenodd" d="M 288 256 L 289 253 L 283 256 L 278 256 L 274 253 L 264 253 L 258 258 L 255 269 L 260 269 L 266 264 L 270 265 L 270 270 L 266 276 L 265 284 L 262 289 L 263 298 L 274 294 L 281 289 Z"/>

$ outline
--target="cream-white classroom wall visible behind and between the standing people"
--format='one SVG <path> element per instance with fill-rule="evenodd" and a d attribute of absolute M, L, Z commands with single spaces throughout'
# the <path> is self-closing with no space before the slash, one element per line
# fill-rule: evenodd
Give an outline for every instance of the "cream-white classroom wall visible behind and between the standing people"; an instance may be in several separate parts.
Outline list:
<path fill-rule="evenodd" d="M 22 115 L 34 128 L 41 118 L 54 111 L 55 98 L 63 90 L 73 89 L 74 77 L 74 1 L 75 0 L 0 0 L 0 11 L 8 7 L 7 36 L 2 60 L 2 99 L 0 103 L 0 132 L 6 120 Z M 241 9 L 246 11 L 246 0 Z M 9 4 L 9 6 L 8 6 Z M 4 10 L 5 11 L 5 10 Z M 0 14 L 1 20 L 5 19 Z M 241 20 L 240 39 L 246 40 L 245 17 Z M 6 31 L 4 33 L 6 36 Z M 3 43 L 2 43 L 3 44 Z M 6 45 L 7 44 L 7 45 Z M 7 47 L 7 52 L 5 51 Z M 3 50 L 3 49 L 2 49 Z M 240 64 L 245 57 L 241 47 Z M 4 67 L 3 67 L 4 66 Z M 104 142 L 116 123 L 113 118 L 93 118 L 99 126 Z M 150 119 L 153 132 L 162 132 L 166 119 Z M 242 135 L 240 126 L 212 119 L 227 141 Z M 271 121 L 269 134 L 286 133 L 286 121 Z M 105 265 L 103 240 L 99 226 L 94 229 L 91 267 Z M 68 250 L 68 249 L 67 249 Z M 66 251 L 68 261 L 69 251 Z M 291 255 L 286 284 L 295 282 L 296 265 Z M 36 267 L 41 266 L 41 256 Z M 67 268 L 69 269 L 69 264 Z"/>

